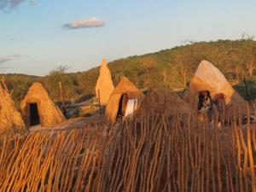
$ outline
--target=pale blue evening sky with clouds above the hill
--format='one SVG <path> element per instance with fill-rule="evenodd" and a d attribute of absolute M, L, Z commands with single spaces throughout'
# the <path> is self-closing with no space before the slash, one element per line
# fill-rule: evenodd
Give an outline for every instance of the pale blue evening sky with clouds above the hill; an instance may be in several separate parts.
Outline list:
<path fill-rule="evenodd" d="M 253 0 L 0 0 L 0 73 L 68 72 L 186 40 L 256 35 Z"/>

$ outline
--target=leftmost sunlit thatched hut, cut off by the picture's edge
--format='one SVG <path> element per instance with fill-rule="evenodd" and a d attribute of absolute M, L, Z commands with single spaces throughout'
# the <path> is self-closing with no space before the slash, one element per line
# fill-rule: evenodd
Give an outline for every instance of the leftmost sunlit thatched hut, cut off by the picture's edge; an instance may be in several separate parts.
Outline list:
<path fill-rule="evenodd" d="M 26 133 L 26 128 L 15 102 L 0 83 L 0 136 L 14 133 Z"/>

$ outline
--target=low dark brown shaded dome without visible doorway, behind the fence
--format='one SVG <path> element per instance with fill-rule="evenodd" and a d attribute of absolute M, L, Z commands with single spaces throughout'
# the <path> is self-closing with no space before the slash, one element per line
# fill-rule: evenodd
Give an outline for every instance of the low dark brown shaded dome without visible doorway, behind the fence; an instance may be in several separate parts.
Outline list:
<path fill-rule="evenodd" d="M 172 90 L 153 88 L 145 96 L 141 108 L 137 110 L 137 116 L 147 117 L 148 114 L 165 112 L 188 117 L 192 110 L 186 102 L 172 93 Z"/>

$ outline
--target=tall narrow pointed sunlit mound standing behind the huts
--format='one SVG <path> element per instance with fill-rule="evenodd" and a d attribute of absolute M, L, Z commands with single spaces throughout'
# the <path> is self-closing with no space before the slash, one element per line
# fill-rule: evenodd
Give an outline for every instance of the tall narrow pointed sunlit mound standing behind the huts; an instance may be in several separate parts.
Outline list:
<path fill-rule="evenodd" d="M 111 73 L 108 69 L 107 60 L 102 60 L 102 66 L 100 70 L 100 76 L 97 79 L 95 91 L 96 97 L 99 99 L 99 92 L 100 92 L 100 100 L 102 105 L 106 105 L 109 100 L 109 96 L 113 91 L 113 81 L 111 78 Z"/>

